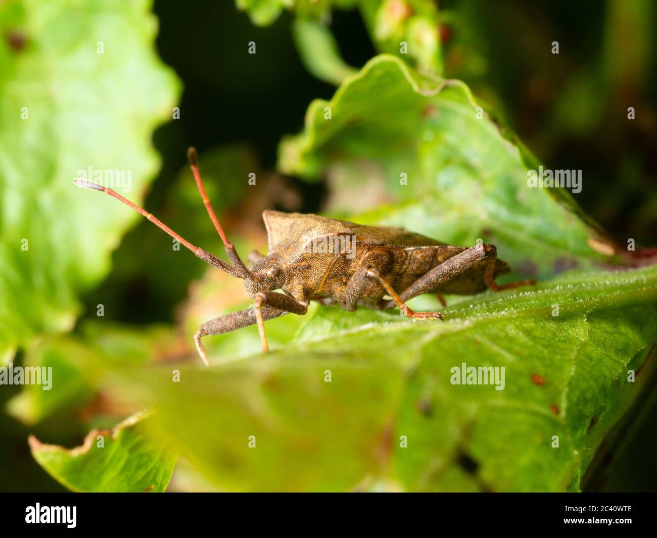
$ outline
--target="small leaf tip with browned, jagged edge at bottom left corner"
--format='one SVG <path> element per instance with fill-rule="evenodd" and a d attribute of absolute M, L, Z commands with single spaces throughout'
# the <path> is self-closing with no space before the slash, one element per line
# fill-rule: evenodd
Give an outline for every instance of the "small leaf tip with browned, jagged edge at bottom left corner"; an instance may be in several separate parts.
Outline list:
<path fill-rule="evenodd" d="M 136 413 L 112 431 L 93 430 L 74 449 L 44 445 L 30 437 L 32 455 L 55 480 L 72 491 L 164 491 L 171 480 L 177 452 L 152 441 Z"/>

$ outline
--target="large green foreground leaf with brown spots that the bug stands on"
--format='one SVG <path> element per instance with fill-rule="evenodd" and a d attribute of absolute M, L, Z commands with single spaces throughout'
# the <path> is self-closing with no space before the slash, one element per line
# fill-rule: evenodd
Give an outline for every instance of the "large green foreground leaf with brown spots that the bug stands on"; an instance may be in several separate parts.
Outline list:
<path fill-rule="evenodd" d="M 577 490 L 645 389 L 656 302 L 651 266 L 488 292 L 442 323 L 317 307 L 267 356 L 181 366 L 177 383 L 170 368 L 118 375 L 124 397 L 157 409 L 154 431 L 221 488 Z M 453 384 L 463 363 L 504 368 L 503 390 Z"/>

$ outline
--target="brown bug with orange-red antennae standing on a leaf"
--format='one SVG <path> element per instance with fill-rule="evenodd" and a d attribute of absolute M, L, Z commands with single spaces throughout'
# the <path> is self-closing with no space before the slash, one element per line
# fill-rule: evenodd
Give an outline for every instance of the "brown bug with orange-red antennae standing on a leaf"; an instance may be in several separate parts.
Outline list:
<path fill-rule="evenodd" d="M 406 317 L 442 319 L 439 312 L 413 312 L 405 302 L 425 293 L 471 295 L 486 288 L 498 291 L 534 283 L 522 280 L 504 286 L 495 284 L 495 277 L 509 273 L 510 268 L 497 259 L 497 250 L 491 244 L 451 246 L 401 229 L 276 211 L 263 212 L 269 239 L 267 256 L 252 252 L 252 263 L 247 267 L 212 210 L 193 148 L 188 156 L 203 202 L 231 264 L 194 246 L 112 189 L 84 179 L 74 182 L 79 187 L 110 194 L 179 240 L 198 258 L 244 279 L 254 307 L 207 321 L 194 335 L 196 349 L 206 364 L 209 360 L 201 343 L 203 336 L 257 323 L 263 351 L 268 351 L 264 321 L 287 313 L 303 315 L 313 300 L 325 305 L 339 303 L 346 311 L 359 306 L 399 307 Z"/>

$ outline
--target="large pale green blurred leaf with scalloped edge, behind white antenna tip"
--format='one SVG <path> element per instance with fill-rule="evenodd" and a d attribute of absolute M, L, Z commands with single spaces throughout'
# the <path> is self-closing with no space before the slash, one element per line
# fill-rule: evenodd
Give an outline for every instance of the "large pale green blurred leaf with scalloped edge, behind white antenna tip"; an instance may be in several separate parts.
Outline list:
<path fill-rule="evenodd" d="M 139 203 L 158 169 L 150 135 L 171 118 L 180 85 L 154 54 L 149 7 L 144 0 L 0 6 L 5 360 L 35 334 L 72 327 L 79 292 L 106 275 L 110 252 L 139 218 L 72 179 L 92 167 L 116 185 L 114 171 L 123 171 L 115 190 Z"/>

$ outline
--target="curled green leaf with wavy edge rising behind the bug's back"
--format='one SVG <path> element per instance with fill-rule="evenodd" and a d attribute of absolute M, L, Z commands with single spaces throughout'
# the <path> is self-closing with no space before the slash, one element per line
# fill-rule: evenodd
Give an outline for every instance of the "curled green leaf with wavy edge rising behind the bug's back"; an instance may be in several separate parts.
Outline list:
<path fill-rule="evenodd" d="M 449 244 L 482 238 L 523 275 L 612 261 L 616 247 L 569 192 L 528 187 L 537 160 L 478 106 L 461 81 L 377 56 L 333 99 L 310 104 L 304 131 L 281 143 L 279 168 L 328 175 L 333 212 L 365 211 L 360 222 Z M 584 177 L 583 188 L 594 182 Z"/>

